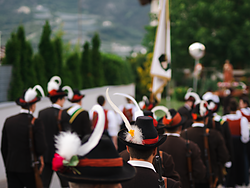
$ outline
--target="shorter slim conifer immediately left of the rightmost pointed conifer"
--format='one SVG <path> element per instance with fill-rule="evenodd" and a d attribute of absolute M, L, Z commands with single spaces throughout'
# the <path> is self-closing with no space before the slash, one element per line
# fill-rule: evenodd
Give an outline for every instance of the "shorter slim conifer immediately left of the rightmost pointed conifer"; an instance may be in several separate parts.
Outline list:
<path fill-rule="evenodd" d="M 83 45 L 83 52 L 81 57 L 81 75 L 82 75 L 82 88 L 92 88 L 93 75 L 92 75 L 92 64 L 91 64 L 91 51 L 89 42 L 86 41 Z"/>

